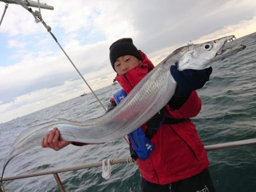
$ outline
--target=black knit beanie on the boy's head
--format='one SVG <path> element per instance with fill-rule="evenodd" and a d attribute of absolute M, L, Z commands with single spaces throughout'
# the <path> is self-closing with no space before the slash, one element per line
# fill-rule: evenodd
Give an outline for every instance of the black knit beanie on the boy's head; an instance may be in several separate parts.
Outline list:
<path fill-rule="evenodd" d="M 115 60 L 124 55 L 133 55 L 142 61 L 141 54 L 139 54 L 139 51 L 134 46 L 133 39 L 131 38 L 123 38 L 115 41 L 112 45 L 110 45 L 109 50 L 109 59 L 114 70 Z"/>

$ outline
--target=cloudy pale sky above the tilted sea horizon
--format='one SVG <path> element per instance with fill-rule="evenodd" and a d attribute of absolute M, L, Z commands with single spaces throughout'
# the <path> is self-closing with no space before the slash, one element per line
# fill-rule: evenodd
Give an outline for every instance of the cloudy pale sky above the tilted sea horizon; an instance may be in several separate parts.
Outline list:
<path fill-rule="evenodd" d="M 42 18 L 93 90 L 112 84 L 109 46 L 122 37 L 157 65 L 188 43 L 256 32 L 255 0 L 40 2 L 54 7 L 41 9 Z M 1 17 L 4 9 L 0 2 Z M 19 5 L 6 10 L 0 50 L 0 123 L 89 92 L 43 24 Z"/>

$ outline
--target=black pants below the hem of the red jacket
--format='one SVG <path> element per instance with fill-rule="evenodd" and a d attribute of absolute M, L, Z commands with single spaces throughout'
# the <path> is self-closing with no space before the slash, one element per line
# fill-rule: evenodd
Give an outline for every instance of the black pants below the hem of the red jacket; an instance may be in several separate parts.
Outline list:
<path fill-rule="evenodd" d="M 193 177 L 167 185 L 151 183 L 142 178 L 141 190 L 142 192 L 216 192 L 208 169 Z"/>

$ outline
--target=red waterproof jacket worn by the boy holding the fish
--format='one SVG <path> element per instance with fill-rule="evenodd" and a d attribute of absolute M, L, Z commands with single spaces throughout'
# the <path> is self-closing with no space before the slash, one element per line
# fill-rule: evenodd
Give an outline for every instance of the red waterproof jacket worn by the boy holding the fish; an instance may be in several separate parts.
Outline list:
<path fill-rule="evenodd" d="M 139 52 L 142 64 L 115 78 L 127 94 L 154 68 L 147 56 Z M 200 110 L 201 100 L 193 91 L 179 109 L 172 110 L 171 106 L 166 105 L 166 116 L 175 119 L 192 118 Z M 145 131 L 146 124 L 142 128 Z M 204 145 L 192 122 L 163 124 L 154 133 L 151 142 L 155 150 L 150 157 L 144 161 L 137 159 L 141 176 L 149 182 L 160 185 L 172 183 L 195 176 L 209 166 Z"/>

